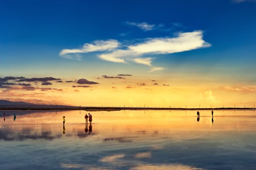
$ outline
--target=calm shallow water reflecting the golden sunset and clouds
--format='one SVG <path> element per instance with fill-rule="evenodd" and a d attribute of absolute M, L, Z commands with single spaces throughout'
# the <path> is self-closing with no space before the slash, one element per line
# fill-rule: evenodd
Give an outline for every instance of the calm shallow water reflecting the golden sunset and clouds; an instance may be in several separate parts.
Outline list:
<path fill-rule="evenodd" d="M 5 121 L 3 112 L 6 113 Z M 14 120 L 13 113 L 16 113 Z M 255 169 L 254 111 L 1 111 L 0 169 Z M 66 116 L 65 127 L 62 116 Z"/>

